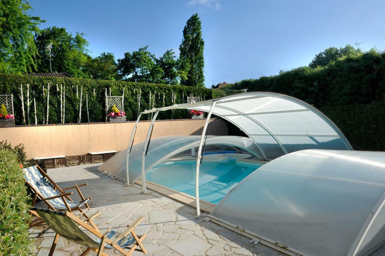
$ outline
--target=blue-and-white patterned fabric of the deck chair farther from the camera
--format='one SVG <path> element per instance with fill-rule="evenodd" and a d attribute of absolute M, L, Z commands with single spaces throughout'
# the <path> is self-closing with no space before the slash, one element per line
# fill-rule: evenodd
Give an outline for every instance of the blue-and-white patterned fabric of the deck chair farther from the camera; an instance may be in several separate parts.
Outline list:
<path fill-rule="evenodd" d="M 39 170 L 37 170 L 36 166 L 31 166 L 23 169 L 24 178 L 28 182 L 32 188 L 41 194 L 44 198 L 49 198 L 52 196 L 59 195 L 52 186 L 49 185 L 47 180 L 43 177 Z M 40 199 L 44 199 L 40 198 Z M 67 198 L 64 198 L 70 208 L 83 206 L 85 203 L 89 201 L 89 199 L 85 199 L 80 203 L 72 202 Z M 56 209 L 67 209 L 62 198 L 54 198 L 47 200 L 54 208 Z"/>

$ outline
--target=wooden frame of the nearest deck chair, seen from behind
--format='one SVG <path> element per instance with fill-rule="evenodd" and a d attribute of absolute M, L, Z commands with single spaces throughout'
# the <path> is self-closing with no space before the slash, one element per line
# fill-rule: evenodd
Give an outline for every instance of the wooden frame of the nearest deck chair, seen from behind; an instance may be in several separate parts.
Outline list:
<path fill-rule="evenodd" d="M 33 211 L 31 209 L 29 211 L 33 215 L 39 216 L 39 214 L 36 211 Z M 144 248 L 144 246 L 142 244 L 142 241 L 146 237 L 146 234 L 143 234 L 139 238 L 137 236 L 135 230 L 134 230 L 135 227 L 144 219 L 144 217 L 137 218 L 131 225 L 128 224 L 127 225 L 127 229 L 124 230 L 114 241 L 112 241 L 112 240 L 108 239 L 105 236 L 105 234 L 108 233 L 111 230 L 111 228 L 109 228 L 104 234 L 102 234 L 100 232 L 99 228 L 94 223 L 94 221 L 92 221 L 92 219 L 97 217 L 97 216 L 99 216 L 99 214 L 100 214 L 100 212 L 92 214 L 92 216 L 88 217 L 85 221 L 82 221 L 79 217 L 75 216 L 74 214 L 70 213 L 69 211 L 66 211 L 64 213 L 64 216 L 67 216 L 68 218 L 72 219 L 72 221 L 74 221 L 75 223 L 79 224 L 80 226 L 82 226 L 83 228 L 87 229 L 92 234 L 94 234 L 95 236 L 97 236 L 98 238 L 101 239 L 99 248 L 90 248 L 89 247 L 80 256 L 87 255 L 91 250 L 95 251 L 98 256 L 99 255 L 108 256 L 108 254 L 103 253 L 103 250 L 104 250 L 104 247 L 105 247 L 106 243 L 109 244 L 110 246 L 112 246 L 114 249 L 116 249 L 120 253 L 122 253 L 123 255 L 126 255 L 126 256 L 131 255 L 133 251 L 141 251 L 144 254 L 147 253 L 147 250 Z M 87 224 L 87 222 L 90 223 L 90 225 Z M 79 226 L 79 228 L 80 228 L 80 226 Z M 122 248 L 121 246 L 117 245 L 116 243 L 120 239 L 125 238 L 130 233 L 134 237 L 135 242 L 133 244 L 130 244 L 130 246 L 125 247 L 125 248 L 129 249 L 129 251 L 126 251 L 126 250 L 124 250 L 124 248 Z M 49 256 L 52 256 L 54 254 L 54 251 L 55 251 L 56 244 L 57 244 L 57 241 L 59 239 L 59 236 L 60 236 L 60 234 L 58 234 L 58 233 L 55 234 L 55 238 L 54 238 L 54 241 L 52 243 L 52 246 L 51 246 L 51 249 L 50 249 L 50 252 L 49 252 Z M 139 246 L 140 249 L 137 248 L 138 246 Z"/>

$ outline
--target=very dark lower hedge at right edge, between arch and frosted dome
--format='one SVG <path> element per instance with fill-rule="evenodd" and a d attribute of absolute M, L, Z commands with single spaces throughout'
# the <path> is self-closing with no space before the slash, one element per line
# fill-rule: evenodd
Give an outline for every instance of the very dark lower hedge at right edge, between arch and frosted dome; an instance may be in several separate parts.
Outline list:
<path fill-rule="evenodd" d="M 320 111 L 340 128 L 354 150 L 385 151 L 385 100 L 325 106 Z"/>

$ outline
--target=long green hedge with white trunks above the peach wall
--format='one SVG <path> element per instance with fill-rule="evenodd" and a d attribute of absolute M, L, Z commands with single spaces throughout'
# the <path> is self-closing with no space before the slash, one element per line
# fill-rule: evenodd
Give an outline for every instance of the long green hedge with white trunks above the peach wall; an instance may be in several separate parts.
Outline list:
<path fill-rule="evenodd" d="M 13 104 L 15 111 L 15 121 L 17 125 L 22 124 L 22 110 L 20 100 L 19 86 L 23 85 L 24 109 L 27 119 L 27 83 L 30 86 L 30 101 L 33 100 L 32 91 L 35 90 L 37 123 L 42 124 L 46 113 L 47 101 L 47 83 L 51 83 L 49 100 L 49 123 L 60 123 L 60 110 L 58 107 L 59 97 L 56 97 L 56 84 L 65 86 L 65 123 L 77 123 L 79 115 L 80 87 L 83 86 L 82 97 L 82 122 L 87 122 L 87 110 L 85 106 L 85 95 L 88 94 L 88 106 L 91 122 L 105 121 L 105 88 L 107 93 L 111 90 L 111 96 L 121 96 L 124 91 L 124 111 L 126 111 L 127 120 L 136 120 L 137 118 L 137 96 L 141 90 L 140 111 L 152 108 L 151 98 L 155 94 L 154 108 L 173 105 L 172 95 L 176 95 L 175 103 L 181 104 L 187 102 L 187 96 L 200 96 L 202 100 L 212 98 L 211 90 L 207 88 L 198 88 L 191 86 L 178 85 L 158 85 L 151 83 L 132 83 L 125 81 L 107 81 L 92 80 L 81 78 L 48 78 L 35 76 L 20 76 L 0 74 L 0 94 L 13 93 Z M 43 86 L 45 86 L 45 97 L 43 97 Z M 78 94 L 76 96 L 76 86 Z M 93 93 L 95 89 L 95 95 Z M 164 103 L 163 103 L 164 94 Z M 59 111 L 58 111 L 59 110 Z M 59 113 L 58 113 L 59 112 Z M 141 120 L 149 120 L 151 115 L 143 115 Z M 164 111 L 159 113 L 158 119 L 180 119 L 188 118 L 186 110 Z M 34 124 L 33 102 L 30 105 L 30 124 Z"/>

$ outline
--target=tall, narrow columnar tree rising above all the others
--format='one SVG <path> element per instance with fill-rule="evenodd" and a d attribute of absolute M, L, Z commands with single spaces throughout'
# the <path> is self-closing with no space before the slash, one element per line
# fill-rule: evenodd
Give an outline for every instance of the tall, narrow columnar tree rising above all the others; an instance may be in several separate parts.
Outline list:
<path fill-rule="evenodd" d="M 186 77 L 181 78 L 182 85 L 204 87 L 204 42 L 201 28 L 198 13 L 192 15 L 184 26 L 183 40 L 179 46 L 180 69 L 186 72 Z"/>

